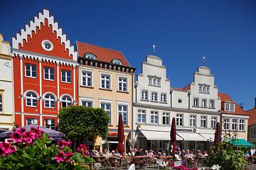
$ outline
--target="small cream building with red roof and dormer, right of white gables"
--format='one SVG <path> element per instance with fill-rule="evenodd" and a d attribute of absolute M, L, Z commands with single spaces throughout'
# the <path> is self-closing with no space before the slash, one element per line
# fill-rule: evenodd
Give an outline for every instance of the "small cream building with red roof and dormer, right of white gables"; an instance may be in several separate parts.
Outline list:
<path fill-rule="evenodd" d="M 243 111 L 228 94 L 218 94 L 221 98 L 222 133 L 233 139 L 247 140 L 248 119 L 250 115 Z"/>

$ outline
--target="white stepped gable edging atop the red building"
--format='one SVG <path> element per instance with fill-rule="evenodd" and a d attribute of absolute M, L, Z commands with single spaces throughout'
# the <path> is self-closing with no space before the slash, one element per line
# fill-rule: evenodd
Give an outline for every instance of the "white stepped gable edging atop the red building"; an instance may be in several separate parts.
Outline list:
<path fill-rule="evenodd" d="M 54 17 L 50 16 L 50 12 L 47 9 L 43 9 L 43 13 L 39 12 L 38 16 L 35 16 L 34 21 L 30 21 L 30 24 L 26 24 L 26 29 L 21 29 L 21 33 L 16 34 L 16 38 L 12 38 L 13 48 L 18 49 L 18 44 L 21 43 L 23 47 L 23 40 L 28 42 L 28 35 L 32 38 L 32 31 L 36 33 L 36 27 L 41 30 L 40 23 L 45 26 L 45 19 L 48 20 L 48 26 L 53 26 L 53 31 L 57 32 L 57 39 L 60 37 L 61 43 L 65 44 L 65 49 L 69 50 L 69 55 L 73 55 L 73 60 L 78 60 L 78 52 L 75 51 L 73 45 L 70 45 L 70 40 L 67 40 L 66 35 L 63 34 L 62 28 L 58 28 L 58 23 L 54 22 Z"/>

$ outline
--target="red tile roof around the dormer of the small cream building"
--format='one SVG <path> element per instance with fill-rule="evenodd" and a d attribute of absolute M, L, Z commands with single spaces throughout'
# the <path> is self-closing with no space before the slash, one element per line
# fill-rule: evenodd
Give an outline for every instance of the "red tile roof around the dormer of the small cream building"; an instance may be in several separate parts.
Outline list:
<path fill-rule="evenodd" d="M 242 110 L 242 108 L 240 108 L 240 106 L 238 106 L 237 103 L 235 103 L 235 112 L 230 112 L 230 111 L 225 111 L 225 106 L 223 106 L 223 103 L 225 101 L 233 101 L 235 102 L 232 98 L 230 98 L 230 96 L 228 96 L 228 94 L 218 94 L 218 96 L 221 99 L 221 113 L 230 113 L 230 114 L 235 114 L 235 115 L 249 115 L 248 113 L 246 113 L 244 110 Z"/>

